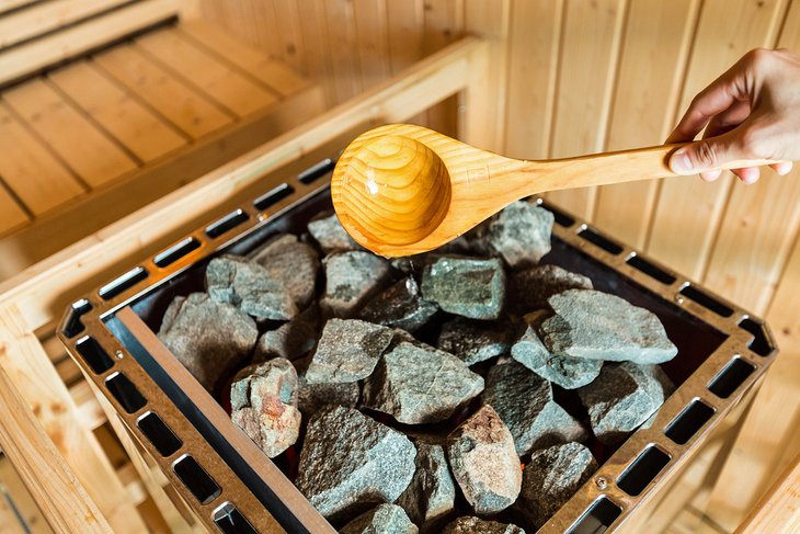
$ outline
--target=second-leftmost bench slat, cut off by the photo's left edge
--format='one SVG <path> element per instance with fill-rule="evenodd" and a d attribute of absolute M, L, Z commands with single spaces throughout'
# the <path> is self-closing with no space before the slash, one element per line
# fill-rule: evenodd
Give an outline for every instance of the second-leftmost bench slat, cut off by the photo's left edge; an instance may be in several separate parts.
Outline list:
<path fill-rule="evenodd" d="M 83 193 L 83 186 L 0 102 L 0 177 L 34 215 Z"/>

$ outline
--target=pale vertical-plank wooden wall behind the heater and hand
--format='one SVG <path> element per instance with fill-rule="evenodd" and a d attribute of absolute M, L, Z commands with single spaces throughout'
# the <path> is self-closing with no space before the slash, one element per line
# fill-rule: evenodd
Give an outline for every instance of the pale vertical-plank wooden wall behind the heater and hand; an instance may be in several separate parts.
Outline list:
<path fill-rule="evenodd" d="M 800 0 L 201 0 L 199 12 L 317 79 L 330 105 L 464 32 L 487 34 L 488 148 L 521 158 L 660 144 L 748 49 L 800 53 Z M 450 102 L 416 120 L 454 132 L 456 113 Z M 551 200 L 769 321 L 782 356 L 706 496 L 731 530 L 800 440 L 800 169 L 751 186 L 687 177 Z"/>

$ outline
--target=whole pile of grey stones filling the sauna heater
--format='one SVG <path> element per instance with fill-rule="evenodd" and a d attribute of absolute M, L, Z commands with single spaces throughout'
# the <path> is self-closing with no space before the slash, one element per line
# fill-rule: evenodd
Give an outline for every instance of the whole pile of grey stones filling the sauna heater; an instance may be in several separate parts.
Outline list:
<path fill-rule="evenodd" d="M 652 313 L 539 263 L 552 225 L 517 202 L 388 261 L 323 214 L 214 258 L 159 337 L 341 532 L 534 532 L 588 446 L 663 404 L 677 353 Z"/>

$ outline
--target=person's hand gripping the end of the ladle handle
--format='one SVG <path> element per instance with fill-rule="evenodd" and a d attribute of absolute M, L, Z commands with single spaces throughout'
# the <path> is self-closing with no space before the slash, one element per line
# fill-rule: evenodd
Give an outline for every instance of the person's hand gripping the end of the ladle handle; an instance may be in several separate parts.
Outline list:
<path fill-rule="evenodd" d="M 778 174 L 800 159 L 800 56 L 787 49 L 754 49 L 700 91 L 666 143 L 701 140 L 676 150 L 670 169 L 717 180 L 708 170 L 739 159 L 772 159 Z M 734 169 L 744 182 L 758 180 L 757 167 Z"/>

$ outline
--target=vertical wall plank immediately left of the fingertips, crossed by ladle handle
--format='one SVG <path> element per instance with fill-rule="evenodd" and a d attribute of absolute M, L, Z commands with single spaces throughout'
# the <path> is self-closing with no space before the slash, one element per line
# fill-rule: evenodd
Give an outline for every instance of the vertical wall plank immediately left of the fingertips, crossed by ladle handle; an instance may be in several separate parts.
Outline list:
<path fill-rule="evenodd" d="M 660 145 L 672 130 L 699 7 L 699 0 L 631 2 L 606 149 Z M 595 224 L 642 248 L 659 184 L 599 188 Z"/>

